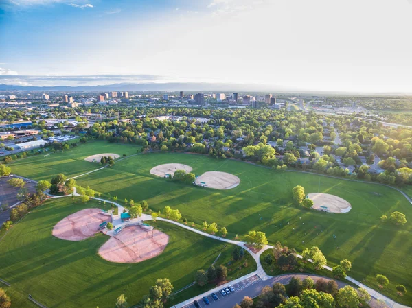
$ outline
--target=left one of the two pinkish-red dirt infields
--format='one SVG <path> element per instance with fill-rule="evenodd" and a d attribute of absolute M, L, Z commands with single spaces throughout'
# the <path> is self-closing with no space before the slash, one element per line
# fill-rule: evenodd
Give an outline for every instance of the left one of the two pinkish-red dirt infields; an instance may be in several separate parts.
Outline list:
<path fill-rule="evenodd" d="M 100 209 L 84 209 L 60 220 L 52 234 L 67 241 L 81 241 L 98 233 L 102 222 L 110 221 L 111 217 Z"/>

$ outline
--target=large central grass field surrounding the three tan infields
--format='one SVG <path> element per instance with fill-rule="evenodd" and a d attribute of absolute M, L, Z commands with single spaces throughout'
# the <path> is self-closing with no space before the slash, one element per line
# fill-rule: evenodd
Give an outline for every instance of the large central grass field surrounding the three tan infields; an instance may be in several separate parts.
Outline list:
<path fill-rule="evenodd" d="M 108 147 L 100 152 L 115 153 L 115 147 L 123 146 L 103 145 Z M 80 147 L 75 151 L 79 157 L 90 155 L 89 150 L 84 155 Z M 184 185 L 150 174 L 152 167 L 165 163 L 189 165 L 196 175 L 206 171 L 227 172 L 238 176 L 240 184 L 233 189 L 216 190 Z M 27 173 L 32 171 L 25 168 L 20 172 L 13 169 L 13 172 L 30 177 Z M 117 196 L 119 201 L 124 198 L 135 202 L 146 200 L 150 209 L 157 211 L 171 206 L 179 209 L 189 222 L 198 225 L 205 220 L 216 222 L 218 226 L 227 227 L 228 238 L 249 230 L 262 230 L 270 244 L 281 241 L 297 250 L 319 246 L 328 265 L 349 259 L 353 265 L 350 276 L 371 287 L 375 287 L 376 274 L 385 274 L 391 284 L 380 292 L 392 298 L 396 298 L 394 289 L 398 283 L 412 290 L 412 258 L 405 257 L 412 251 L 412 205 L 389 187 L 315 174 L 276 172 L 239 161 L 179 153 L 133 156 L 117 162 L 111 169 L 102 169 L 77 180 L 82 186 L 89 185 L 102 192 L 102 198 Z M 302 185 L 306 193 L 339 196 L 350 202 L 352 210 L 334 215 L 297 206 L 291 196 L 291 189 L 296 185 Z M 404 213 L 409 222 L 404 226 L 381 223 L 380 216 L 389 216 L 392 211 Z M 397 300 L 411 305 L 412 292 Z"/>

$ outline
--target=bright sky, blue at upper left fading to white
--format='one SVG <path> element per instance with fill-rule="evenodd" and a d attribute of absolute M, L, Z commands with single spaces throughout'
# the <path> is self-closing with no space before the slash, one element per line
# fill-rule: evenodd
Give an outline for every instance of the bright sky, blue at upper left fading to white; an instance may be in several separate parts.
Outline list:
<path fill-rule="evenodd" d="M 0 0 L 0 84 L 412 93 L 412 0 Z"/>

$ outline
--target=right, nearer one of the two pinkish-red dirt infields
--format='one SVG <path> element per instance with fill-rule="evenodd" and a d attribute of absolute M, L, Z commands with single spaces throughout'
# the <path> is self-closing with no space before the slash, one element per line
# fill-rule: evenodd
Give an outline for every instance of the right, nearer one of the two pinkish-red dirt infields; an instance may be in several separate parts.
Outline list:
<path fill-rule="evenodd" d="M 138 263 L 161 254 L 169 236 L 159 230 L 128 226 L 99 248 L 100 257 L 116 263 Z"/>

